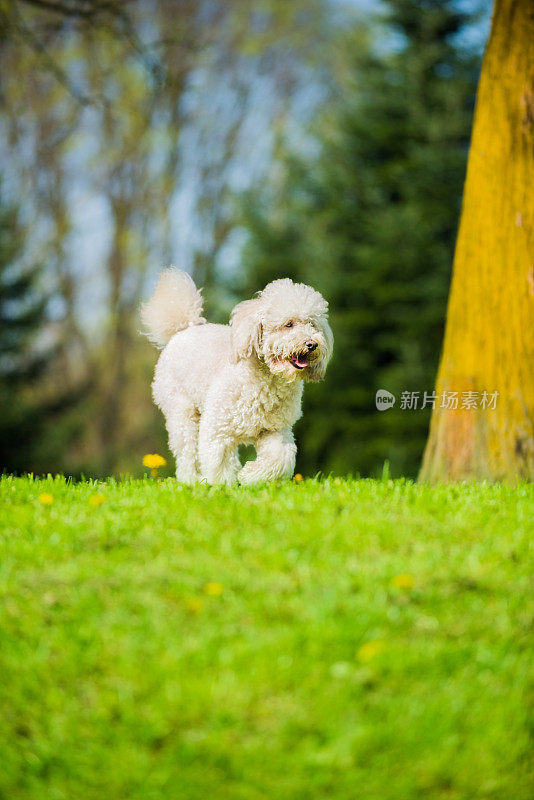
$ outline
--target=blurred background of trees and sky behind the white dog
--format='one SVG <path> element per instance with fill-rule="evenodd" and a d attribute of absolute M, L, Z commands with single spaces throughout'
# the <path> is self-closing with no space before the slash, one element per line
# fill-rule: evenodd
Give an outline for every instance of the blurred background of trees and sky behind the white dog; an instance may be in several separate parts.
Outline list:
<path fill-rule="evenodd" d="M 331 305 L 306 474 L 417 471 L 487 4 L 0 0 L 0 453 L 139 472 L 167 453 L 137 308 L 162 265 L 212 321 L 269 280 Z"/>

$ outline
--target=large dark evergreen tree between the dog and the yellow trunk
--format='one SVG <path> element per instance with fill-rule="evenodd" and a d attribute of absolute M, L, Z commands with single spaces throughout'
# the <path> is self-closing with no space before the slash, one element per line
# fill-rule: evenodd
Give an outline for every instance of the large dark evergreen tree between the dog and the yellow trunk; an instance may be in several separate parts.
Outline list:
<path fill-rule="evenodd" d="M 386 5 L 387 52 L 356 34 L 319 156 L 288 156 L 247 203 L 243 294 L 288 275 L 330 301 L 335 356 L 297 429 L 308 473 L 372 475 L 388 460 L 415 475 L 428 428 L 479 58 L 460 46 L 473 20 L 456 2 Z M 376 410 L 377 389 L 393 409 Z M 418 410 L 400 408 L 403 391 L 420 393 Z"/>

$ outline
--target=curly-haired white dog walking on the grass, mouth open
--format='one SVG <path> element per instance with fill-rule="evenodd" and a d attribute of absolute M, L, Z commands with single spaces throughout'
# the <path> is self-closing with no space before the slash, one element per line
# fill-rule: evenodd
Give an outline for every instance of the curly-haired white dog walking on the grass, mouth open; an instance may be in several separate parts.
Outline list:
<path fill-rule="evenodd" d="M 141 318 L 164 347 L 152 391 L 163 411 L 176 477 L 243 484 L 290 478 L 303 379 L 320 381 L 332 354 L 328 303 L 311 286 L 273 281 L 239 303 L 230 325 L 206 324 L 185 272 L 161 273 Z M 239 444 L 257 458 L 241 467 Z"/>

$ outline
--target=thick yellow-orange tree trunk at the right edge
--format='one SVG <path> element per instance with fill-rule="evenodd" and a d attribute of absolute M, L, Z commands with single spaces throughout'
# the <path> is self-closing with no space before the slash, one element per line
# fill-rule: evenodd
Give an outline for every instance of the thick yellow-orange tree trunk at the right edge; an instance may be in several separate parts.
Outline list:
<path fill-rule="evenodd" d="M 444 392 L 457 409 L 441 407 Z M 481 407 L 484 392 L 498 392 L 495 409 Z M 420 480 L 532 480 L 533 0 L 495 2 L 436 395 Z M 462 407 L 469 397 L 477 408 Z"/>

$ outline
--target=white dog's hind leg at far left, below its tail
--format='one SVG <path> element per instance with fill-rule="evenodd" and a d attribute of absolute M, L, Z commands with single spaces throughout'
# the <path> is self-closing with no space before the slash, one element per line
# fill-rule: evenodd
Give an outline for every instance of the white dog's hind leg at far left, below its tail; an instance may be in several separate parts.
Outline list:
<path fill-rule="evenodd" d="M 200 480 L 197 455 L 199 421 L 198 410 L 187 398 L 174 398 L 166 423 L 169 448 L 176 459 L 176 478 L 181 483 Z"/>

